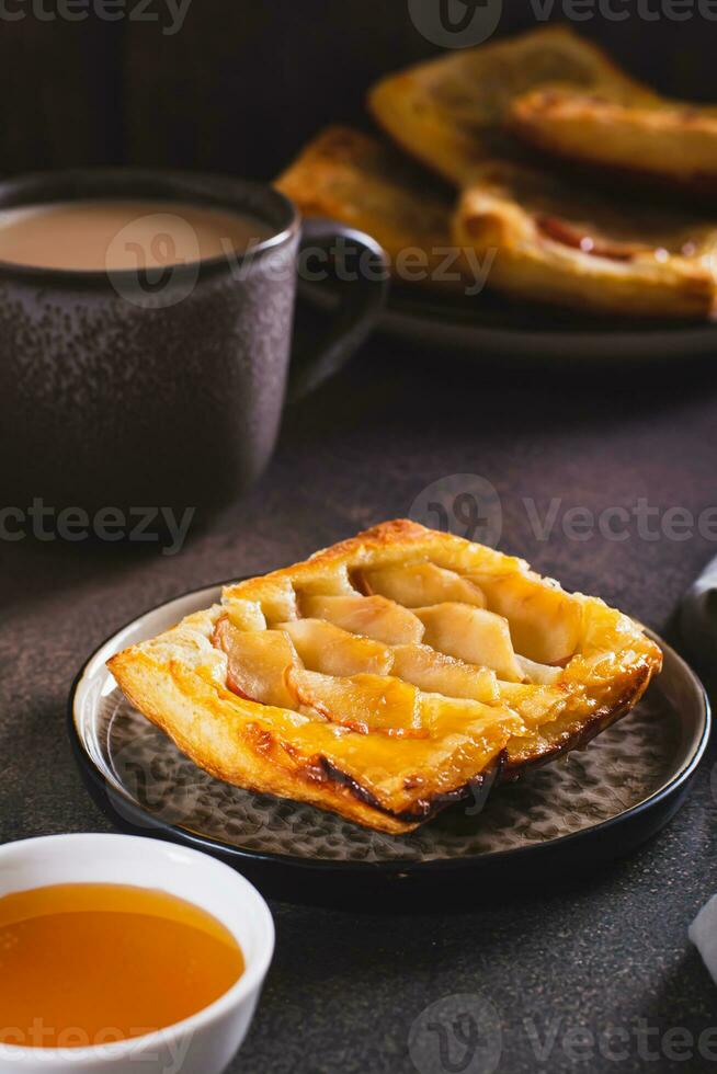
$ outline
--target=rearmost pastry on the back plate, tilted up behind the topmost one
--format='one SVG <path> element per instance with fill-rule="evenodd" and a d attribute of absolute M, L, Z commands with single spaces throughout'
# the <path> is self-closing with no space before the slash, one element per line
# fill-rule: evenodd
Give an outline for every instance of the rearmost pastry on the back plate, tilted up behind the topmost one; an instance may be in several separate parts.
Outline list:
<path fill-rule="evenodd" d="M 371 90 L 368 106 L 397 145 L 464 185 L 481 161 L 515 151 L 505 127 L 514 99 L 556 81 L 607 85 L 635 104 L 657 100 L 595 45 L 557 25 L 389 75 Z"/>

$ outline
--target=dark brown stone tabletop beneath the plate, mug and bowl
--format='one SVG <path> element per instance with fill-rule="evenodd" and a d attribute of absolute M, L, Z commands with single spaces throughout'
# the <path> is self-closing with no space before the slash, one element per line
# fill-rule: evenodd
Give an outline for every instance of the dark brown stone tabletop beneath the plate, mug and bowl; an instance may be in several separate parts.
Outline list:
<path fill-rule="evenodd" d="M 717 504 L 716 441 L 708 366 L 628 374 L 616 361 L 578 376 L 374 340 L 287 416 L 259 487 L 180 555 L 0 541 L 0 839 L 109 830 L 72 762 L 65 706 L 83 658 L 115 627 L 190 587 L 406 515 L 451 475 L 498 490 L 504 549 L 670 633 L 717 541 L 674 539 L 664 512 L 696 517 Z M 548 539 L 534 536 L 524 498 L 539 517 L 554 501 Z M 657 539 L 635 526 L 621 541 L 566 532 L 571 507 L 631 511 L 640 498 L 661 513 Z M 458 912 L 273 903 L 276 957 L 232 1069 L 408 1074 L 411 1025 L 455 994 L 492 1003 L 507 1074 L 717 1069 L 717 989 L 686 933 L 717 891 L 713 763 L 661 834 L 588 879 L 566 867 L 512 892 L 477 892 Z M 457 1055 L 429 1074 L 478 1070 Z"/>

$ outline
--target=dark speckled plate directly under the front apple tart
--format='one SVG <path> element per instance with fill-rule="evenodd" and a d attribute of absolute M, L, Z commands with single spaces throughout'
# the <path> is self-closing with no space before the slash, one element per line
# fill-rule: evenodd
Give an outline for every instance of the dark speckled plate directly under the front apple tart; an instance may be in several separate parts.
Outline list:
<path fill-rule="evenodd" d="M 86 781 L 123 827 L 202 846 L 291 898 L 301 873 L 411 880 L 446 869 L 490 871 L 568 854 L 624 853 L 674 813 L 704 751 L 704 689 L 664 644 L 665 666 L 646 698 L 584 751 L 466 801 L 417 832 L 389 836 L 224 784 L 198 769 L 117 689 L 105 661 L 218 598 L 220 586 L 179 597 L 110 638 L 81 670 L 69 728 Z M 658 639 L 659 640 L 659 639 Z M 287 883 L 289 889 L 287 891 Z"/>

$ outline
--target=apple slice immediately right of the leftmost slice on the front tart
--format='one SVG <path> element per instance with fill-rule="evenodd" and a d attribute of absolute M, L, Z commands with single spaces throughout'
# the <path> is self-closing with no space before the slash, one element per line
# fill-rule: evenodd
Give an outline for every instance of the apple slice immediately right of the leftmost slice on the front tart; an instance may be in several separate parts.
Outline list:
<path fill-rule="evenodd" d="M 285 630 L 305 667 L 325 675 L 388 675 L 394 653 L 373 638 L 349 633 L 323 619 L 295 619 Z"/>

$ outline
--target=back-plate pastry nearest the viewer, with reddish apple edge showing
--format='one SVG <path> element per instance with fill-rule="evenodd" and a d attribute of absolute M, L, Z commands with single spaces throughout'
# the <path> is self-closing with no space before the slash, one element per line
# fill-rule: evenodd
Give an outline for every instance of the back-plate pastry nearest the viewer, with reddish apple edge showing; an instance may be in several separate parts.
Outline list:
<path fill-rule="evenodd" d="M 492 161 L 474 172 L 454 240 L 485 258 L 488 283 L 517 298 L 655 318 L 709 318 L 717 224 L 616 204 L 548 172 Z"/>

